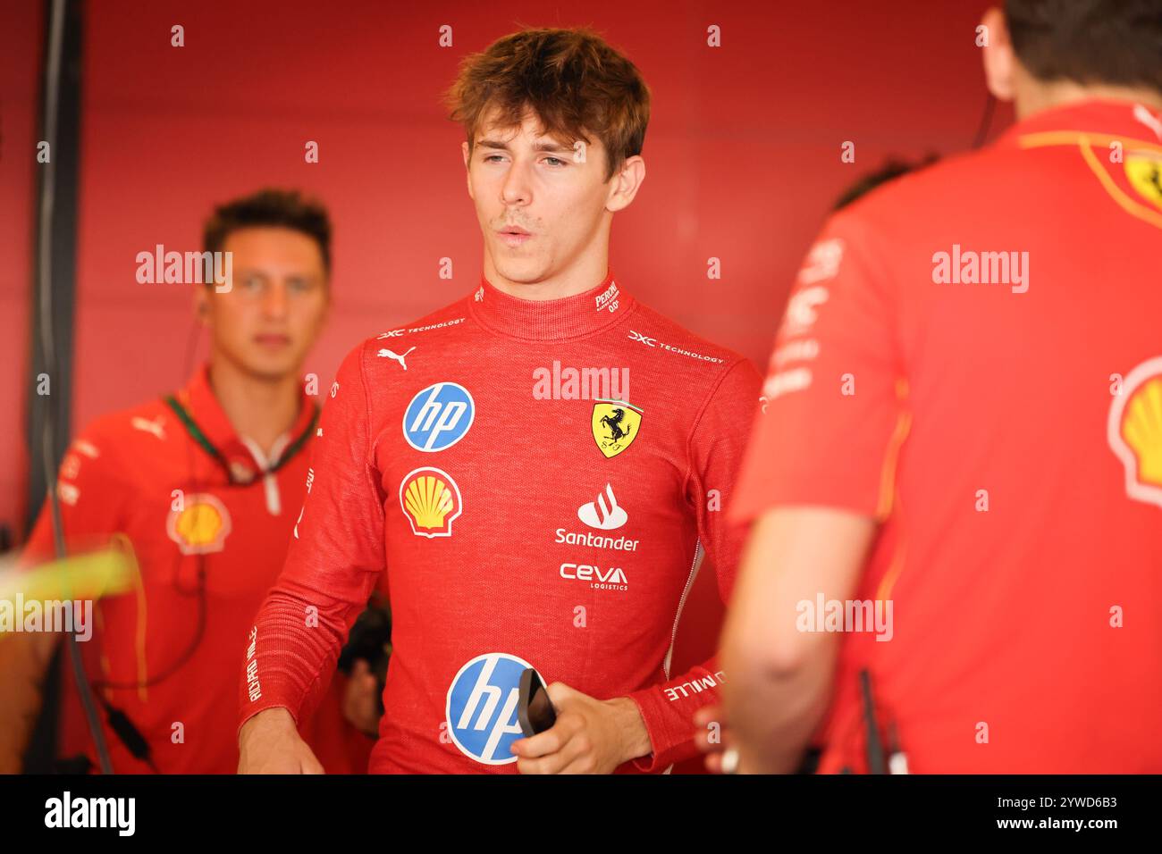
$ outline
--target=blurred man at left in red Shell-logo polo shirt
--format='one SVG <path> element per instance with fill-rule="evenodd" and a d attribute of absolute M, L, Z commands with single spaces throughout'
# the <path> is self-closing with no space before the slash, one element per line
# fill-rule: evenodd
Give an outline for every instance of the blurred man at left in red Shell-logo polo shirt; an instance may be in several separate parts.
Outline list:
<path fill-rule="evenodd" d="M 218 207 L 205 249 L 223 263 L 208 270 L 232 275 L 191 285 L 208 361 L 175 394 L 94 421 L 62 462 L 66 544 L 112 538 L 139 566 L 136 589 L 100 600 L 93 640 L 79 644 L 116 773 L 237 768 L 235 639 L 278 576 L 302 498 L 318 412 L 302 366 L 330 304 L 330 235 L 325 209 L 296 193 Z M 24 560 L 52 554 L 45 507 Z M 65 686 L 62 753 L 96 766 Z M 363 770 L 338 692 L 337 682 L 307 737 L 329 770 Z M 108 726 L 113 709 L 144 737 L 148 759 Z"/>

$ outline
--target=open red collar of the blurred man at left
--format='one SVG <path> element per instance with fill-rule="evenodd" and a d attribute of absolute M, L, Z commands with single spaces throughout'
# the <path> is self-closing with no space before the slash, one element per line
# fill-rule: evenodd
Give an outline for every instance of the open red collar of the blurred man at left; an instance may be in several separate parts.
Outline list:
<path fill-rule="evenodd" d="M 214 395 L 214 388 L 210 386 L 209 363 L 205 363 L 194 372 L 194 375 L 177 393 L 175 397 L 198 424 L 206 439 L 222 454 L 231 478 L 238 483 L 249 483 L 274 466 L 287 446 L 302 435 L 315 417 L 314 403 L 308 400 L 306 389 L 303 389 L 300 392 L 299 415 L 294 425 L 288 432 L 274 440 L 272 454 L 270 459 L 265 459 L 261 450 L 252 439 L 238 436 L 222 409 L 222 404 L 218 403 Z"/>

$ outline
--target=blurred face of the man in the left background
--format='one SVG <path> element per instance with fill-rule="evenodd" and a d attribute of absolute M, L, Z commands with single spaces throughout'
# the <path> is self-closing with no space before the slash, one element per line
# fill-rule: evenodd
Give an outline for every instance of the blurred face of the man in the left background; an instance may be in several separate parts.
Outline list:
<path fill-rule="evenodd" d="M 264 379 L 297 373 L 327 320 L 330 293 L 315 239 L 287 228 L 230 232 L 232 287 L 199 289 L 199 310 L 216 351 Z"/>

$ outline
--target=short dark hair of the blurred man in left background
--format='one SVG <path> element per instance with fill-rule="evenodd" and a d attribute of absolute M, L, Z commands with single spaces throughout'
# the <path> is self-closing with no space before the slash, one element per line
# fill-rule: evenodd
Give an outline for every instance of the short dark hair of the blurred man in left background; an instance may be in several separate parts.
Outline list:
<path fill-rule="evenodd" d="M 331 274 L 331 218 L 323 203 L 306 199 L 296 189 L 260 189 L 214 208 L 202 229 L 202 249 L 221 252 L 225 238 L 244 228 L 288 228 L 313 237 Z"/>

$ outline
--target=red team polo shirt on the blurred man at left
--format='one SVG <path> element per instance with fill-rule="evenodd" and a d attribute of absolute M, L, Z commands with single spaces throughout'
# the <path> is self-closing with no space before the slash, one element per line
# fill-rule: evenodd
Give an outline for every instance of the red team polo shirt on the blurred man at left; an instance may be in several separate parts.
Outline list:
<path fill-rule="evenodd" d="M 94 690 L 145 737 L 157 770 L 232 774 L 237 638 L 281 569 L 317 407 L 303 395 L 296 423 L 266 459 L 236 435 L 207 366 L 173 401 L 177 407 L 156 400 L 98 418 L 62 461 L 57 489 L 66 548 L 113 537 L 139 566 L 134 590 L 96 602 L 96 630 L 79 648 Z M 45 505 L 24 560 L 52 553 Z M 64 684 L 62 752 L 86 752 L 95 766 L 72 679 Z M 358 733 L 342 718 L 338 690 L 336 681 L 304 738 L 328 770 L 361 772 L 353 768 Z M 105 739 L 114 772 L 151 773 L 107 725 Z"/>

